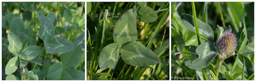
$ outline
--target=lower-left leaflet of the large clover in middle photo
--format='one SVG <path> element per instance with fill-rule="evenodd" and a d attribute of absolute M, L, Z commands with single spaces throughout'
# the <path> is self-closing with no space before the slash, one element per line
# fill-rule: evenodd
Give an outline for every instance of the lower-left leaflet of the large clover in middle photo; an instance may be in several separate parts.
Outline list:
<path fill-rule="evenodd" d="M 99 67 L 100 69 L 114 68 L 119 57 L 118 43 L 105 46 L 100 52 Z"/>

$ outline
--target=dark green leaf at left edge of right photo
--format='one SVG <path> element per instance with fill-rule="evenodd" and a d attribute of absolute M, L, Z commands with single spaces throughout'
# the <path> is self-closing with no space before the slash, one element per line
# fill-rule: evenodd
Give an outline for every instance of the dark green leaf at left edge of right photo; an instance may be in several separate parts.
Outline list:
<path fill-rule="evenodd" d="M 185 42 L 184 42 L 182 36 L 176 30 L 172 29 L 172 37 L 174 38 L 174 42 L 176 43 L 178 49 L 180 51 L 183 51 Z"/>

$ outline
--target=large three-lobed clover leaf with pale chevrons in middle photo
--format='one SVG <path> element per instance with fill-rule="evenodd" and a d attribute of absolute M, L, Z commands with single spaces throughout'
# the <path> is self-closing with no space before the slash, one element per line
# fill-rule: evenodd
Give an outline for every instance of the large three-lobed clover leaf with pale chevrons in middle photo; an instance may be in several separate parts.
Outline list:
<path fill-rule="evenodd" d="M 136 15 L 132 9 L 126 11 L 116 22 L 113 31 L 113 44 L 105 46 L 100 52 L 100 69 L 114 68 L 119 53 L 122 59 L 132 66 L 149 66 L 160 63 L 160 59 L 150 49 L 137 40 Z"/>

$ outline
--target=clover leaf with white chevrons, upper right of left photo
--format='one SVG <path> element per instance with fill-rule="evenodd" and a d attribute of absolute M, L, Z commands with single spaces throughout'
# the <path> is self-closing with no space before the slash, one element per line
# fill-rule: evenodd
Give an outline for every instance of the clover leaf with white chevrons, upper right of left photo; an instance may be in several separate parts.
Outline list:
<path fill-rule="evenodd" d="M 52 25 L 52 22 L 54 23 L 55 21 L 54 18 L 56 18 L 54 16 L 49 16 L 49 15 L 47 16 L 51 18 L 51 21 L 44 15 L 40 17 L 40 28 L 39 28 L 38 35 L 41 38 L 41 40 L 44 41 L 44 46 L 48 53 L 68 52 L 74 48 L 74 44 L 72 44 L 72 42 L 66 40 L 65 38 L 58 37 L 58 36 L 54 37 L 55 31 Z"/>

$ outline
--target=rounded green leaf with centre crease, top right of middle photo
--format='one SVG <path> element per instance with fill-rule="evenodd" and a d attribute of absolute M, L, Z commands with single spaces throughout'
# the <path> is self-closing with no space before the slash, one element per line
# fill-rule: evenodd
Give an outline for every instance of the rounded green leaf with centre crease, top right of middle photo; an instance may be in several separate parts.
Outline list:
<path fill-rule="evenodd" d="M 141 6 L 138 11 L 137 11 L 137 15 L 142 15 L 144 13 L 149 13 L 154 11 L 152 8 L 148 7 L 148 6 Z M 158 19 L 158 15 L 157 13 L 151 13 L 149 15 L 145 15 L 142 17 L 138 18 L 140 21 L 146 22 L 146 23 L 151 23 L 154 22 Z"/>

